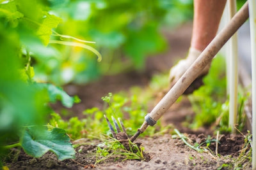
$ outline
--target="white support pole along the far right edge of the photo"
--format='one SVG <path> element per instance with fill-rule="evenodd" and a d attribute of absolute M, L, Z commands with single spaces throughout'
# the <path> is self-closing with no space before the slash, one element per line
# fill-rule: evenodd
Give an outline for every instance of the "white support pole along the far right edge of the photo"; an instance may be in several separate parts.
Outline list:
<path fill-rule="evenodd" d="M 249 0 L 250 36 L 252 49 L 252 169 L 256 169 L 256 1 Z"/>

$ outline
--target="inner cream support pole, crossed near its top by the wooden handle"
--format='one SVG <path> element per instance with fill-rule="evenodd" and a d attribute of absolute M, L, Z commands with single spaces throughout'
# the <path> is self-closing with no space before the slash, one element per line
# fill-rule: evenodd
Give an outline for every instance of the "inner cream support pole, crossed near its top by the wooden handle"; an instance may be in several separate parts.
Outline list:
<path fill-rule="evenodd" d="M 230 19 L 236 14 L 236 0 L 228 0 L 228 11 Z M 235 132 L 234 126 L 237 121 L 237 84 L 238 84 L 238 55 L 237 55 L 237 33 L 230 38 L 229 53 L 229 121 L 228 125 L 232 133 Z"/>

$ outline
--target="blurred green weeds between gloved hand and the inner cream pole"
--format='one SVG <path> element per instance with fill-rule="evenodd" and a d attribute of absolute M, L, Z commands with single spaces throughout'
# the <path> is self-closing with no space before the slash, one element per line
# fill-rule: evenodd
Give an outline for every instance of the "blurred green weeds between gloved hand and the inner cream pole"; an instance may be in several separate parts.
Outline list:
<path fill-rule="evenodd" d="M 195 118 L 189 127 L 196 129 L 202 126 L 211 126 L 222 112 L 228 110 L 225 103 L 226 74 L 225 58 L 218 56 L 212 60 L 211 69 L 204 78 L 204 85 L 189 96 Z"/>

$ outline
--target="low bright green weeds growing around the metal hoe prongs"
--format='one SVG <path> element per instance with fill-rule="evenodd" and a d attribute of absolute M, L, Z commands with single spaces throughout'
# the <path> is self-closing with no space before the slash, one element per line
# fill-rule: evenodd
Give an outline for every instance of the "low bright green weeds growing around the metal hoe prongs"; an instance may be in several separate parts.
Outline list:
<path fill-rule="evenodd" d="M 102 110 L 99 108 L 90 108 L 84 110 L 85 118 L 78 119 L 72 117 L 70 120 L 63 120 L 58 113 L 51 114 L 50 125 L 65 129 L 72 139 L 79 138 L 99 138 L 100 134 L 111 134 L 108 124 L 104 119 L 107 117 L 121 118 L 124 122 L 127 134 L 132 136 L 144 122 L 147 113 L 147 102 L 139 101 L 137 95 L 120 92 L 118 94 L 109 93 L 108 96 L 102 97 L 105 102 Z M 148 129 L 143 135 L 152 135 L 156 129 Z"/>

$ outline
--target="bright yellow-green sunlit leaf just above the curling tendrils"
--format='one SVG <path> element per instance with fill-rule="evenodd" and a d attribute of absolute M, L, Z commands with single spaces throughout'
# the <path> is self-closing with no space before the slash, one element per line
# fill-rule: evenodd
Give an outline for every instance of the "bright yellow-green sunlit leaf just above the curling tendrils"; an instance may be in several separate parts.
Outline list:
<path fill-rule="evenodd" d="M 44 20 L 36 32 L 44 45 L 48 45 L 50 36 L 52 34 L 52 28 L 56 28 L 60 21 L 61 18 L 49 13 L 45 13 Z"/>

